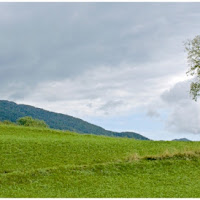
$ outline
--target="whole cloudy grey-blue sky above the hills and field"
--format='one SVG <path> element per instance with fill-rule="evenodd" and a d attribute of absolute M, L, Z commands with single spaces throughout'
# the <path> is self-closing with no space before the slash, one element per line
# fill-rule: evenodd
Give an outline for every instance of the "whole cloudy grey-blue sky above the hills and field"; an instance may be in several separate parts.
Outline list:
<path fill-rule="evenodd" d="M 200 3 L 0 3 L 0 99 L 155 140 L 200 140 L 183 42 Z"/>

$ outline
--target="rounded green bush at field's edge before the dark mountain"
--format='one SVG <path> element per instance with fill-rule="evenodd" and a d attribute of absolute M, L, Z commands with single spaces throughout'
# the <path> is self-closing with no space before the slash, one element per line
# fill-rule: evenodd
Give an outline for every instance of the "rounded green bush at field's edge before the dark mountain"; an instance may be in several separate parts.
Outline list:
<path fill-rule="evenodd" d="M 43 120 L 33 119 L 29 116 L 19 118 L 17 124 L 22 126 L 48 128 L 48 125 Z"/>

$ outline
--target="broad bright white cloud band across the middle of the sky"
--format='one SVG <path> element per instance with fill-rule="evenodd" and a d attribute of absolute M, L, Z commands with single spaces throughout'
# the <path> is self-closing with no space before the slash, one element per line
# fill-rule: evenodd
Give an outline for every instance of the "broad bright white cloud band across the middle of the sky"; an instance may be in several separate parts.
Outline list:
<path fill-rule="evenodd" d="M 183 78 L 182 66 L 182 61 L 171 60 L 95 67 L 74 78 L 40 83 L 18 102 L 77 117 L 123 116 L 138 108 L 152 112 L 160 95 Z"/>

